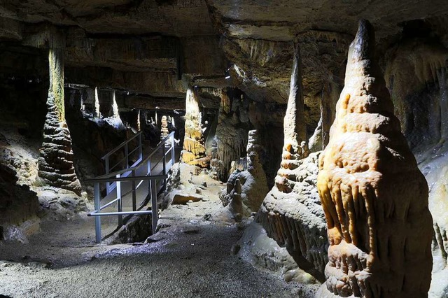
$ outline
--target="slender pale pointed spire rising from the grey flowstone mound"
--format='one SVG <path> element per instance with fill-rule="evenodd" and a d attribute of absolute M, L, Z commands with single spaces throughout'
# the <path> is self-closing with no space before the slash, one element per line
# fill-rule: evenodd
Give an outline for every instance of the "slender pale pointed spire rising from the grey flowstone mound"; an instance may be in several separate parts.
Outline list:
<path fill-rule="evenodd" d="M 304 102 L 302 86 L 302 58 L 298 43 L 294 46 L 293 71 L 291 73 L 288 106 L 283 120 L 283 153 L 281 167 L 275 178 L 275 184 L 282 192 L 291 192 L 296 180 L 294 169 L 299 160 L 307 157 L 307 131 L 304 120 Z"/>

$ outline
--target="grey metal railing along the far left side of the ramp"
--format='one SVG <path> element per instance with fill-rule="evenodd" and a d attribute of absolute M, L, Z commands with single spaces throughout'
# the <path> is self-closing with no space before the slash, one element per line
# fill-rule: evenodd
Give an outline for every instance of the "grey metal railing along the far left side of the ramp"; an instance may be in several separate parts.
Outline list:
<path fill-rule="evenodd" d="M 109 174 L 111 173 L 111 171 L 113 169 L 116 169 L 117 166 L 120 166 L 120 164 L 122 164 L 122 162 L 125 162 L 125 169 L 129 169 L 132 168 L 134 166 L 137 166 L 137 164 L 139 164 L 139 162 L 141 162 L 141 160 L 143 159 L 143 150 L 141 148 L 141 134 L 142 132 L 139 132 L 138 134 L 136 134 L 135 136 L 130 137 L 130 139 L 127 139 L 126 141 L 124 141 L 123 143 L 121 143 L 120 145 L 118 145 L 115 149 L 111 150 L 109 153 L 107 153 L 106 155 L 104 155 L 101 159 L 104 160 L 104 173 Z M 139 142 L 137 143 L 137 147 L 132 149 L 131 151 L 129 150 L 129 143 L 136 139 L 139 138 Z M 120 149 L 124 150 L 125 153 L 125 157 L 123 157 L 122 159 L 118 160 L 118 162 L 116 162 L 116 164 L 114 164 L 113 166 L 110 166 L 110 157 L 113 156 L 116 152 L 120 152 Z M 130 159 L 132 158 L 132 155 L 139 150 L 139 158 L 132 164 L 129 164 Z M 117 170 L 117 169 L 116 169 Z M 127 177 L 129 176 L 130 171 L 126 171 L 125 173 L 123 173 L 123 177 Z M 106 192 L 109 194 L 109 192 L 111 192 L 113 189 L 115 189 L 116 187 L 116 182 L 113 183 L 106 183 Z"/>

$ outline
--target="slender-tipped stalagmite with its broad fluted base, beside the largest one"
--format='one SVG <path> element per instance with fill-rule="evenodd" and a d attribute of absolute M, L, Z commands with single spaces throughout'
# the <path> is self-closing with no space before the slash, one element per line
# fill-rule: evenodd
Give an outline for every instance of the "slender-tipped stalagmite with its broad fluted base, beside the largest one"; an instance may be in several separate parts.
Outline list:
<path fill-rule="evenodd" d="M 284 118 L 284 145 L 275 185 L 265 197 L 258 220 L 300 269 L 324 281 L 328 241 L 325 216 L 318 199 L 318 153 L 308 155 L 303 114 L 300 51 L 295 47 L 290 97 Z M 303 158 L 306 157 L 306 158 Z"/>

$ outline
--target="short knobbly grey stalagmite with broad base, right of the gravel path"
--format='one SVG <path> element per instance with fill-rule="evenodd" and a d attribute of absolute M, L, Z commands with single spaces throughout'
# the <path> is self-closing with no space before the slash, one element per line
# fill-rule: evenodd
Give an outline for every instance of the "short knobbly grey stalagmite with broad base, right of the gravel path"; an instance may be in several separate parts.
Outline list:
<path fill-rule="evenodd" d="M 232 212 L 233 214 L 241 213 L 241 215 L 248 215 L 250 211 L 258 211 L 263 199 L 269 189 L 267 188 L 267 179 L 265 171 L 260 163 L 260 156 L 263 154 L 263 148 L 260 145 L 260 137 L 257 130 L 251 130 L 248 133 L 247 144 L 247 170 L 235 171 L 230 175 L 227 189 L 225 193 L 221 194 L 223 205 L 230 205 L 230 209 L 238 210 Z M 241 202 L 246 206 L 240 206 Z M 243 210 L 249 210 L 243 213 Z"/>

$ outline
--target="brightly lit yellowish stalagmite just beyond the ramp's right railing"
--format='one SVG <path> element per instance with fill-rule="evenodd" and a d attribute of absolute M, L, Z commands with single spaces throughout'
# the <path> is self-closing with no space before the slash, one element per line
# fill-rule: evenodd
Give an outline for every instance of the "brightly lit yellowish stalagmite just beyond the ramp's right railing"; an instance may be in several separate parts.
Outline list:
<path fill-rule="evenodd" d="M 199 110 L 199 98 L 196 90 L 187 90 L 185 138 L 183 139 L 182 161 L 203 168 L 209 165 L 205 155 L 204 137 L 202 136 L 202 120 Z"/>

